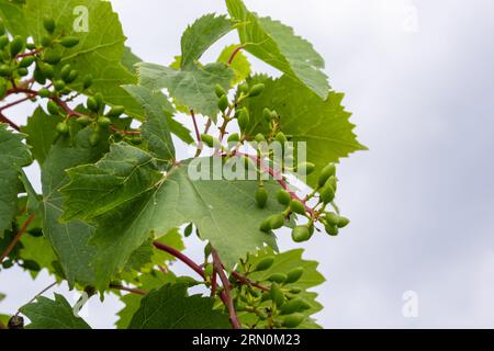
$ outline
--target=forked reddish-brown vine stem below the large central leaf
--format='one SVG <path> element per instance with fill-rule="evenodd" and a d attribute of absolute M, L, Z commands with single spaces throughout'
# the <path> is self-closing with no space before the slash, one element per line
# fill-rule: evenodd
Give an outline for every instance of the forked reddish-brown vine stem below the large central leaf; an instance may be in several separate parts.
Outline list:
<path fill-rule="evenodd" d="M 206 279 L 206 276 L 205 276 L 205 274 L 204 274 L 204 270 L 198 264 L 198 263 L 195 263 L 194 261 L 192 261 L 189 257 L 187 257 L 186 254 L 183 254 L 182 252 L 180 252 L 179 250 L 177 250 L 177 249 L 173 249 L 172 247 L 169 247 L 168 245 L 165 245 L 165 244 L 161 244 L 161 242 L 159 242 L 159 241 L 153 241 L 153 245 L 157 248 L 157 249 L 159 249 L 159 250 L 162 250 L 162 251 L 165 251 L 165 252 L 168 252 L 168 253 L 170 253 L 171 256 L 173 256 L 173 257 L 176 257 L 177 259 L 179 259 L 180 261 L 182 261 L 183 263 L 186 263 L 189 268 L 191 268 L 195 273 L 198 273 L 199 275 L 201 275 L 201 278 L 203 279 L 203 280 L 205 280 Z M 212 250 L 212 252 L 213 252 L 214 250 Z M 216 252 L 216 251 L 214 251 L 214 252 Z M 220 260 L 220 257 L 217 256 L 217 253 L 216 253 L 216 257 L 217 257 L 217 260 Z M 214 256 L 213 256 L 213 258 L 214 258 Z M 213 263 L 214 264 L 214 263 Z M 222 292 L 221 292 L 221 295 L 220 295 L 220 297 L 221 297 L 221 299 L 222 299 L 222 302 L 223 302 L 223 304 L 226 306 L 226 308 L 228 309 L 228 314 L 229 314 L 229 320 L 231 320 L 231 322 L 232 322 L 232 327 L 234 328 L 234 329 L 239 329 L 240 328 L 240 322 L 238 321 L 238 318 L 237 318 L 237 315 L 236 315 L 236 312 L 235 312 L 235 308 L 234 308 L 234 306 L 233 306 L 233 299 L 232 299 L 232 294 L 231 294 L 231 285 L 229 285 L 229 282 L 228 282 L 228 279 L 226 278 L 226 275 L 225 275 L 225 272 L 223 271 L 223 268 L 222 268 L 223 265 L 221 264 L 221 261 L 220 261 L 220 267 L 215 267 L 215 270 L 216 270 L 216 272 L 218 273 L 218 275 L 220 275 L 220 279 L 222 280 L 222 283 L 223 283 L 223 290 L 222 290 Z M 218 269 L 220 268 L 220 269 Z M 224 281 L 224 279 L 226 279 L 226 284 L 225 284 L 225 281 Z M 228 286 L 229 287 L 229 290 L 226 287 L 226 286 Z M 228 292 L 227 292 L 228 291 Z"/>

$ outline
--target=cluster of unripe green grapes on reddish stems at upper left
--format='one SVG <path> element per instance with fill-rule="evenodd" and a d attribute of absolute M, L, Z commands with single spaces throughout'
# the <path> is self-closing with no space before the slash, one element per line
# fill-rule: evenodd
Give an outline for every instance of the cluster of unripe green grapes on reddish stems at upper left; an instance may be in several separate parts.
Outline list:
<path fill-rule="evenodd" d="M 79 38 L 64 35 L 64 31 L 58 31 L 53 19 L 45 19 L 43 24 L 46 33 L 36 45 L 19 35 L 10 38 L 3 23 L 0 22 L 0 99 L 8 92 L 26 93 L 32 100 L 37 97 L 47 99 L 48 114 L 60 120 L 56 126 L 60 136 L 70 133 L 69 123 L 76 118 L 78 125 L 91 126 L 89 144 L 96 146 L 125 109 L 113 106 L 109 109 L 102 95 L 100 93 L 91 95 L 89 90 L 92 86 L 92 77 L 79 77 L 77 69 L 74 69 L 70 64 L 64 64 L 64 49 L 76 47 Z M 30 69 L 32 69 L 31 79 L 26 78 Z M 76 80 L 82 84 L 82 92 L 89 97 L 86 106 L 78 109 L 81 111 L 74 111 L 67 104 L 68 101 L 78 97 L 78 93 L 70 95 L 74 93 L 70 84 Z M 42 88 L 34 90 L 34 83 L 38 83 Z M 113 132 L 117 137 L 127 138 L 134 144 L 141 141 L 138 133 L 126 135 L 121 131 Z"/>

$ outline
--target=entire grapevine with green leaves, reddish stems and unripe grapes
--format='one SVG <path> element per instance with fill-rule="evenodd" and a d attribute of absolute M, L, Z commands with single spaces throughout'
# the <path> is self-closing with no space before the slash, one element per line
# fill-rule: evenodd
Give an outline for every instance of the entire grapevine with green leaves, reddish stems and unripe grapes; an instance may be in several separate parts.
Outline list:
<path fill-rule="evenodd" d="M 88 31 L 77 30 L 79 4 Z M 72 290 L 117 294 L 121 329 L 319 327 L 317 263 L 278 252 L 277 235 L 290 228 L 296 244 L 343 233 L 335 162 L 366 147 L 312 45 L 240 0 L 226 4 L 229 15 L 186 29 L 165 67 L 125 46 L 108 1 L 0 0 L 1 271 L 45 270 Z M 239 44 L 201 63 L 233 30 Z M 252 73 L 245 52 L 282 77 Z M 9 110 L 21 103 L 34 111 L 25 125 Z M 173 136 L 195 155 L 180 159 Z M 288 152 L 300 143 L 306 160 Z M 25 169 L 33 160 L 41 194 Z M 313 190 L 296 191 L 289 173 Z M 204 246 L 202 260 L 183 237 Z M 176 260 L 198 280 L 177 276 Z M 199 284 L 210 292 L 190 296 Z M 58 294 L 20 312 L 27 328 L 89 328 Z"/>

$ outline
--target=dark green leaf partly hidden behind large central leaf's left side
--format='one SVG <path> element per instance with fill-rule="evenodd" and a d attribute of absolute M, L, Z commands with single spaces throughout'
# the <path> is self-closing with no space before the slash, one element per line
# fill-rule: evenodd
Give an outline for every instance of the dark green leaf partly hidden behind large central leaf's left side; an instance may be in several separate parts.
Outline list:
<path fill-rule="evenodd" d="M 66 169 L 96 162 L 106 150 L 103 143 L 98 147 L 89 145 L 90 133 L 89 127 L 79 132 L 74 143 L 60 139 L 52 147 L 42 167 L 43 233 L 59 257 L 69 285 L 76 281 L 90 285 L 94 281 L 89 263 L 96 249 L 87 245 L 94 228 L 80 220 L 58 220 L 63 214 L 58 189 L 69 180 Z"/>

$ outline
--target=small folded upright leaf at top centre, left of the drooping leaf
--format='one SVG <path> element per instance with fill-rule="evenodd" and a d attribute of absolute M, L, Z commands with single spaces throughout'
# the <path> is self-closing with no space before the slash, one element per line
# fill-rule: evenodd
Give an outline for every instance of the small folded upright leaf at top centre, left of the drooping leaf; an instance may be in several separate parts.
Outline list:
<path fill-rule="evenodd" d="M 181 68 L 193 65 L 207 48 L 232 31 L 232 22 L 225 15 L 203 15 L 183 32 Z"/>

